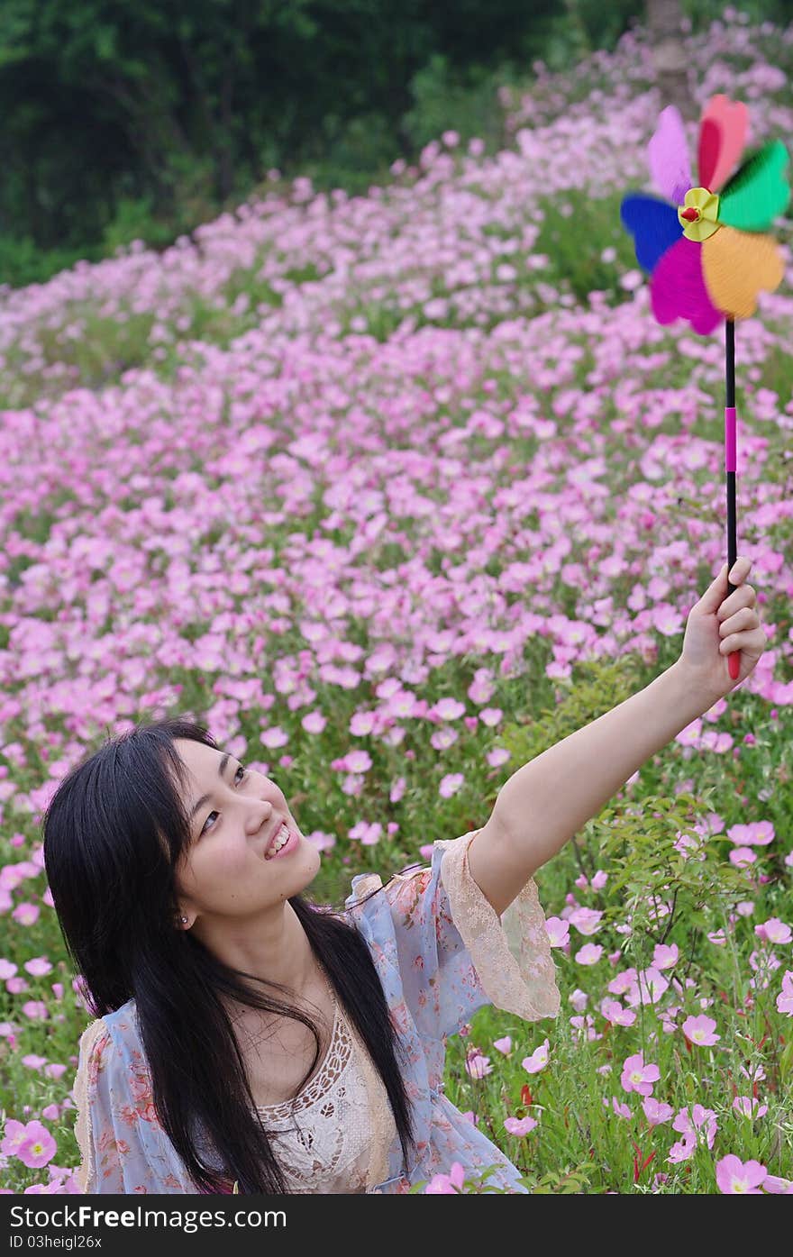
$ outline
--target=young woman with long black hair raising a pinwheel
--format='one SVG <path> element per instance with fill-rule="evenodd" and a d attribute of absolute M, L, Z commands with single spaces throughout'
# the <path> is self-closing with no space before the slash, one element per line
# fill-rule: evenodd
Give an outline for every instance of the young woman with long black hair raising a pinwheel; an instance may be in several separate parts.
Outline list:
<path fill-rule="evenodd" d="M 520 768 L 430 867 L 353 877 L 341 913 L 304 896 L 319 852 L 275 782 L 200 725 L 141 725 L 73 769 L 44 860 L 96 1018 L 75 1081 L 83 1189 L 407 1192 L 460 1161 L 525 1190 L 444 1095 L 446 1038 L 486 1003 L 557 1014 L 532 874 L 755 667 L 767 639 L 736 566 L 667 672 Z"/>

